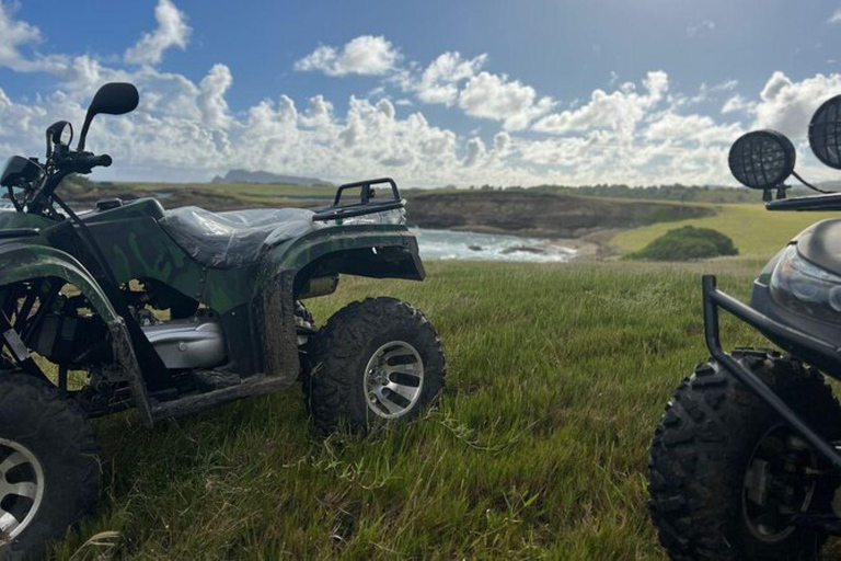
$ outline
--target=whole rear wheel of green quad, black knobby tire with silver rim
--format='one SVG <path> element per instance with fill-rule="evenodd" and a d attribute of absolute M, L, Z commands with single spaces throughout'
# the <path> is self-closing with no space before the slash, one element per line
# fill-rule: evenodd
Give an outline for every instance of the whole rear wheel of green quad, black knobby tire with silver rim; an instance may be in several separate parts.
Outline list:
<path fill-rule="evenodd" d="M 304 399 L 324 432 L 413 419 L 438 398 L 447 374 L 433 324 L 394 298 L 368 298 L 336 312 L 313 342 L 312 365 Z"/>

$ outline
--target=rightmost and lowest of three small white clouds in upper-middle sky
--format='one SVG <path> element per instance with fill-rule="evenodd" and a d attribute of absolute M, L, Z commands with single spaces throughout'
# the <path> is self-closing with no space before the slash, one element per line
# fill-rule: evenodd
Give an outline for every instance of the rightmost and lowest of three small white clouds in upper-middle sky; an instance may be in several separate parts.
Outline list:
<path fill-rule="evenodd" d="M 509 80 L 505 75 L 480 72 L 459 93 L 459 106 L 472 117 L 503 122 L 506 130 L 521 130 L 549 113 L 555 102 L 539 96 L 534 88 Z"/>

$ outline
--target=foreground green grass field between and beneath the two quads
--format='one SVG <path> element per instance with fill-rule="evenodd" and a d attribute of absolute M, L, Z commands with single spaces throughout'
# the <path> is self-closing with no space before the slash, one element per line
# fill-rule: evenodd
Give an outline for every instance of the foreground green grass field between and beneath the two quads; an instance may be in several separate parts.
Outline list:
<path fill-rule="evenodd" d="M 367 438 L 319 438 L 298 388 L 151 431 L 103 420 L 101 511 L 58 557 L 94 559 L 108 549 L 82 543 L 115 531 L 125 559 L 663 559 L 645 462 L 706 356 L 699 275 L 746 297 L 760 266 L 433 262 L 426 283 L 345 279 L 310 302 L 319 321 L 390 295 L 435 322 L 437 410 Z"/>

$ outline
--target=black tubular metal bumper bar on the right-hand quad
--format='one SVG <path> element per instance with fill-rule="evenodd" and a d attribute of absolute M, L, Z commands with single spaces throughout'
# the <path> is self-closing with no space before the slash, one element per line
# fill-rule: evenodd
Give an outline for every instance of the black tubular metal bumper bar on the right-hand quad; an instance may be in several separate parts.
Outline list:
<path fill-rule="evenodd" d="M 813 431 L 759 376 L 745 368 L 722 348 L 718 334 L 718 308 L 729 312 L 748 325 L 756 328 L 786 351 L 794 352 L 797 356 L 808 356 L 809 360 L 807 362 L 815 366 L 826 367 L 827 365 L 833 365 L 832 368 L 838 369 L 838 365 L 841 364 L 841 350 L 826 341 L 783 325 L 718 290 L 715 285 L 715 276 L 713 275 L 704 275 L 702 285 L 704 294 L 704 337 L 713 358 L 752 390 L 768 407 L 776 411 L 809 444 L 826 456 L 832 466 L 841 469 L 841 454 L 839 454 L 839 450 L 826 438 Z"/>

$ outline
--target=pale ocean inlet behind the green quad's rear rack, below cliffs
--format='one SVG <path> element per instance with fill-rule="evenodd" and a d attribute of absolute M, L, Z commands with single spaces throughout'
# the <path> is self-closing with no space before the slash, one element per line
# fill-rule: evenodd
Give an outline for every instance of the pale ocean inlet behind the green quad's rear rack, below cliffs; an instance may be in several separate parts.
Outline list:
<path fill-rule="evenodd" d="M 576 256 L 576 250 L 552 240 L 422 228 L 413 231 L 424 259 L 565 263 Z"/>

